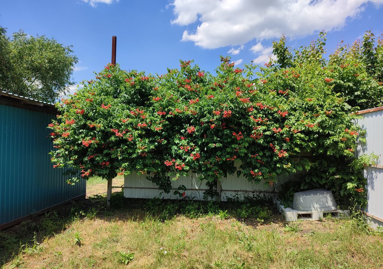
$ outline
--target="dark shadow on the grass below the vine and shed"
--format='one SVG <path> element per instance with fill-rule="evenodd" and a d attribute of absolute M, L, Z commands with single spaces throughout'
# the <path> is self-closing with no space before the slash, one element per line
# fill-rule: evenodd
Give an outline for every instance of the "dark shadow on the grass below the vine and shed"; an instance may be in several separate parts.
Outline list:
<path fill-rule="evenodd" d="M 216 215 L 218 218 L 236 218 L 249 226 L 268 222 L 283 222 L 272 206 L 271 200 L 262 197 L 232 200 L 228 202 L 124 198 L 123 192 L 115 192 L 111 210 L 106 210 L 106 197 L 91 196 L 72 201 L 70 204 L 32 218 L 0 232 L 0 266 L 23 251 L 31 250 L 45 238 L 65 231 L 72 223 L 84 218 L 101 220 L 129 220 L 142 222 L 146 219 L 165 221 L 177 215 L 199 218 Z M 32 249 L 33 251 L 33 249 Z"/>

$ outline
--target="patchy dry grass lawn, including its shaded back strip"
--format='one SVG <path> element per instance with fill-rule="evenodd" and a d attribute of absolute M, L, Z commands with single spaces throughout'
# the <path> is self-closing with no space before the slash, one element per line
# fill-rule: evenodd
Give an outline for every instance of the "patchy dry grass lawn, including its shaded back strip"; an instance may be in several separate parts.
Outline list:
<path fill-rule="evenodd" d="M 0 232 L 3 267 L 383 266 L 383 236 L 366 230 L 359 218 L 286 227 L 265 201 L 169 202 L 124 199 L 121 192 L 113 194 L 111 211 L 104 207 L 105 196 L 91 197 Z"/>

